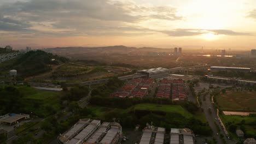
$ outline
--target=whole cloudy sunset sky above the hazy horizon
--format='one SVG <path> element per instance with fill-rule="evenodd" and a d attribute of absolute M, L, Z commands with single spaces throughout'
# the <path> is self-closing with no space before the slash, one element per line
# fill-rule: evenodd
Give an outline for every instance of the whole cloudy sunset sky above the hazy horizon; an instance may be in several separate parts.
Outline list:
<path fill-rule="evenodd" d="M 0 46 L 256 49 L 255 0 L 0 0 Z"/>

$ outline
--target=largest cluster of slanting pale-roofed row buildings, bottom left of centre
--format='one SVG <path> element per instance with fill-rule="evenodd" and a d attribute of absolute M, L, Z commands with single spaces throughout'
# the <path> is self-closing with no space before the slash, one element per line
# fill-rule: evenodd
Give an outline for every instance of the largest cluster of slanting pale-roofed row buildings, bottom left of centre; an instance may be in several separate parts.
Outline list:
<path fill-rule="evenodd" d="M 61 144 L 118 144 L 122 140 L 122 128 L 119 123 L 104 122 L 95 119 L 80 119 L 71 129 L 58 137 Z"/>

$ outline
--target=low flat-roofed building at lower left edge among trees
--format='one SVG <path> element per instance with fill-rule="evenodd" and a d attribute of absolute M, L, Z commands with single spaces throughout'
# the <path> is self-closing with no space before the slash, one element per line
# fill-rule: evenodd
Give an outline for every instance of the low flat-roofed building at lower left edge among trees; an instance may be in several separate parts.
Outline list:
<path fill-rule="evenodd" d="M 28 118 L 30 118 L 30 115 L 26 115 L 22 113 L 21 114 L 8 113 L 6 115 L 0 116 L 0 123 L 12 125 Z"/>

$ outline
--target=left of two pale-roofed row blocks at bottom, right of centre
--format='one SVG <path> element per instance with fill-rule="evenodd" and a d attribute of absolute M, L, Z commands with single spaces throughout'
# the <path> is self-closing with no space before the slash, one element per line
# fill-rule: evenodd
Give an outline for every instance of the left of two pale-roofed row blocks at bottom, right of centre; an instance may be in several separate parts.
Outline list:
<path fill-rule="evenodd" d="M 143 129 L 143 134 L 139 144 L 164 144 L 165 140 L 165 128 L 157 128 L 154 126 L 148 126 Z"/>

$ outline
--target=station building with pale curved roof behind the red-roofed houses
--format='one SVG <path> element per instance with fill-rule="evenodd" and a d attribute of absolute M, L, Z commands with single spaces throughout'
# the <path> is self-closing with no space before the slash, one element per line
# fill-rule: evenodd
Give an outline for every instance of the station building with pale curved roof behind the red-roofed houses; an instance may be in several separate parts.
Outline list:
<path fill-rule="evenodd" d="M 159 78 L 165 77 L 170 74 L 170 70 L 165 68 L 154 68 L 154 69 L 144 69 L 139 70 L 138 73 L 147 74 L 149 78 Z"/>

